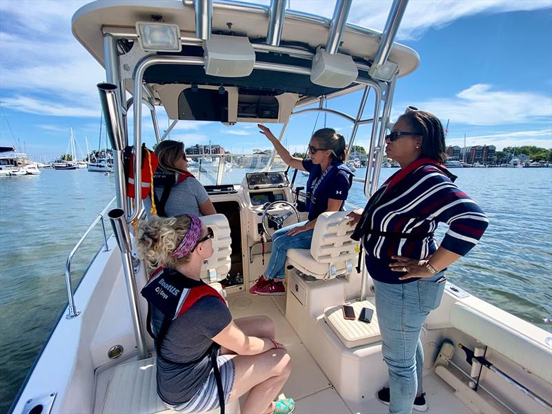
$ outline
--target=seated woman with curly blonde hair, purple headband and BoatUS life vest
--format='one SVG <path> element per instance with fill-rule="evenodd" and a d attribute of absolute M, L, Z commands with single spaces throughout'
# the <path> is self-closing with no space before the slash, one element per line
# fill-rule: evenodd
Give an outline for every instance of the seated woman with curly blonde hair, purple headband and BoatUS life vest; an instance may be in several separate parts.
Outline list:
<path fill-rule="evenodd" d="M 182 413 L 223 408 L 248 392 L 242 413 L 288 414 L 293 400 L 273 401 L 290 375 L 290 357 L 274 339 L 272 320 L 233 321 L 224 299 L 201 281 L 211 239 L 213 230 L 193 215 L 150 217 L 139 228 L 139 253 L 159 268 L 141 291 L 157 351 L 157 393 Z"/>

